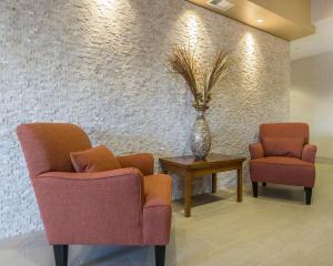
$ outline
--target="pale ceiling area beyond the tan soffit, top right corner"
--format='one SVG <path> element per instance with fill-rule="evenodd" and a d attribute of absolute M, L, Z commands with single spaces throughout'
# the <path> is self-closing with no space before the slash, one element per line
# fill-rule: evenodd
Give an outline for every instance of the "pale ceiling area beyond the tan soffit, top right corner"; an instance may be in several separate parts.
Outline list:
<path fill-rule="evenodd" d="M 315 34 L 291 42 L 291 60 L 333 51 L 333 0 L 312 0 Z"/>

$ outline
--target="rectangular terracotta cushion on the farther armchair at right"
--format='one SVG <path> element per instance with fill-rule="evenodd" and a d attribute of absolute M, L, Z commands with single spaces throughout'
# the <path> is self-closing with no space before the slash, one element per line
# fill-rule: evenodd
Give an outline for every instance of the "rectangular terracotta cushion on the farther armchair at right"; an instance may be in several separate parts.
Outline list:
<path fill-rule="evenodd" d="M 263 137 L 265 156 L 302 157 L 303 137 Z"/>

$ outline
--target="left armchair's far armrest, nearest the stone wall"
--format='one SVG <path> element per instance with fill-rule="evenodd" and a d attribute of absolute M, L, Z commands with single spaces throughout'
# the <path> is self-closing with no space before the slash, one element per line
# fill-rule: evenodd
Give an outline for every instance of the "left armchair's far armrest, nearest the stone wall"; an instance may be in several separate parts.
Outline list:
<path fill-rule="evenodd" d="M 123 168 L 139 168 L 143 175 L 152 175 L 154 173 L 154 157 L 150 153 L 118 156 L 118 161 Z"/>

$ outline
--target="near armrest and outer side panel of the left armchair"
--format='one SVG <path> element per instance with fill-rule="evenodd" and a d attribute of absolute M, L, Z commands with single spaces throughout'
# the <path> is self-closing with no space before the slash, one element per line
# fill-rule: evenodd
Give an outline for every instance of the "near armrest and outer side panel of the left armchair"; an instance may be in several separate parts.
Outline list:
<path fill-rule="evenodd" d="M 32 178 L 50 244 L 141 244 L 143 176 L 137 168 Z"/>

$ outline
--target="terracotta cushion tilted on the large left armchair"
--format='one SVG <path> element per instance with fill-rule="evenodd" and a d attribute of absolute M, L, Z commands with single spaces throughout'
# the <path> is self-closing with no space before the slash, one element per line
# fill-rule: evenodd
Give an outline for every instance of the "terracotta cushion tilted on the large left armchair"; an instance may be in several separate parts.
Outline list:
<path fill-rule="evenodd" d="M 121 168 L 117 157 L 104 145 L 82 152 L 73 152 L 70 156 L 78 173 L 105 172 Z"/>

